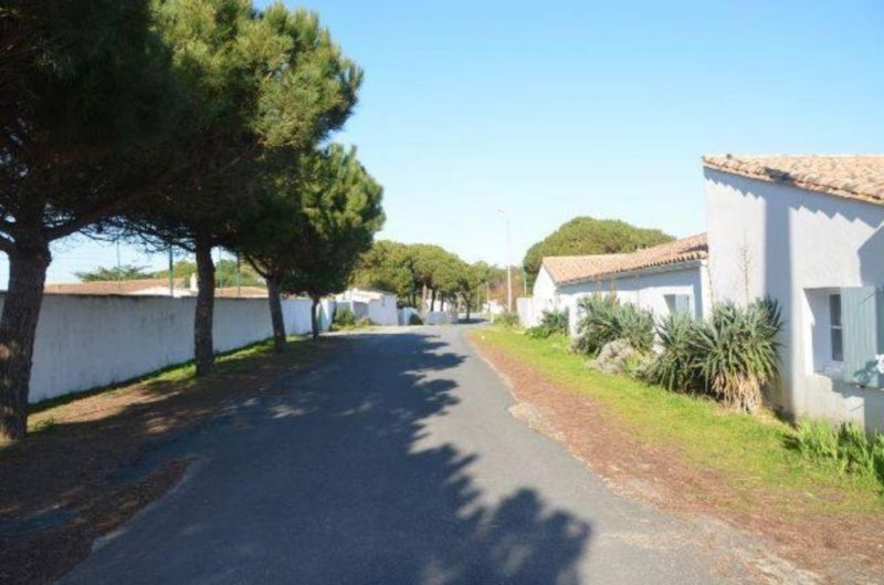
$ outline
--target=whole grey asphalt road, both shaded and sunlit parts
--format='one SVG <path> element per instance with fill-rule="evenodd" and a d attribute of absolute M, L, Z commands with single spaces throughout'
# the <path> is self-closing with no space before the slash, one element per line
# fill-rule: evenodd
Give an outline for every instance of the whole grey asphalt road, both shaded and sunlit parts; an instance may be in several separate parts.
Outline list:
<path fill-rule="evenodd" d="M 186 480 L 62 582 L 722 582 L 692 524 L 513 418 L 463 332 L 360 335 L 162 448 Z"/>

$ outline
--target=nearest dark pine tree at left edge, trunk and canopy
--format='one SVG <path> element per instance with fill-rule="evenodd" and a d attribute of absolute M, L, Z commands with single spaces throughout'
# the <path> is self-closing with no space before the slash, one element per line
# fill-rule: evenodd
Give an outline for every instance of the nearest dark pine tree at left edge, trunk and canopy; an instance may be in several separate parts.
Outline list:
<path fill-rule="evenodd" d="M 146 1 L 12 0 L 0 32 L 0 440 L 17 440 L 50 244 L 159 197 L 179 92 Z"/>

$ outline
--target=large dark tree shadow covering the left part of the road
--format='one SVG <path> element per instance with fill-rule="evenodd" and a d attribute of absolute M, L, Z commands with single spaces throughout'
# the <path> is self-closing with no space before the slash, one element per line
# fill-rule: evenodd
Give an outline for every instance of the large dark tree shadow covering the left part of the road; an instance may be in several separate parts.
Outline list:
<path fill-rule="evenodd" d="M 586 582 L 589 524 L 528 488 L 484 494 L 480 455 L 433 442 L 464 355 L 427 331 L 344 345 L 168 448 L 207 462 L 70 582 Z"/>

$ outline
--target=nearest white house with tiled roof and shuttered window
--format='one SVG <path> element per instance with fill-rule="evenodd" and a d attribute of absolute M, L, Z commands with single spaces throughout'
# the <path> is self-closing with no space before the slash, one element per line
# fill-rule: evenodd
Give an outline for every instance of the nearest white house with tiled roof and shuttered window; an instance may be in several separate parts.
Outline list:
<path fill-rule="evenodd" d="M 794 416 L 884 428 L 884 156 L 707 156 L 712 297 L 780 302 Z"/>

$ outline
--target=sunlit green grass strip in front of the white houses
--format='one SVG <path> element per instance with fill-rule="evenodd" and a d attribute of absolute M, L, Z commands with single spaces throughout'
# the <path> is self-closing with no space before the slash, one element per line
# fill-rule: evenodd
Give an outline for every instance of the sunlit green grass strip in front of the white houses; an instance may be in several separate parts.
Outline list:
<path fill-rule="evenodd" d="M 533 339 L 518 331 L 485 328 L 474 336 L 481 345 L 503 349 L 551 382 L 604 405 L 642 441 L 675 449 L 688 462 L 718 472 L 745 495 L 744 502 L 761 489 L 783 504 L 802 494 L 820 513 L 884 511 L 875 478 L 843 473 L 802 457 L 790 447 L 792 426 L 772 414 L 729 412 L 704 397 L 591 372 L 583 358 L 568 353 L 569 342 L 561 335 Z M 801 513 L 806 512 L 803 505 Z"/>

